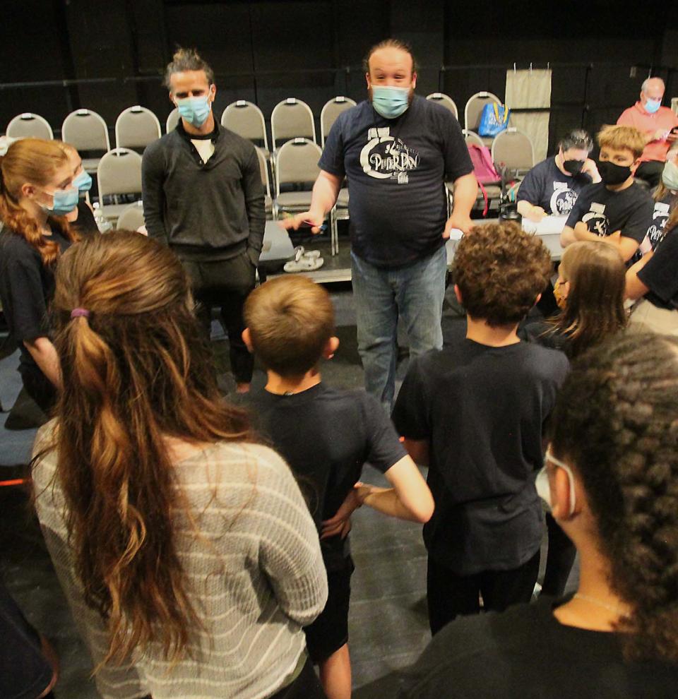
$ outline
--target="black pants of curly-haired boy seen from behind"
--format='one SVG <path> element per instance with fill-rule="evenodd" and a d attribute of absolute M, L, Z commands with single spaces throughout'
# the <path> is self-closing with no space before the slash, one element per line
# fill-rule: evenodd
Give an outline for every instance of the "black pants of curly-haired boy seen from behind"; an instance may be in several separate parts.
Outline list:
<path fill-rule="evenodd" d="M 504 611 L 511 604 L 530 602 L 539 574 L 539 551 L 518 568 L 456 575 L 429 556 L 427 599 L 429 625 L 435 634 L 461 614 L 478 614 L 482 595 L 486 611 Z"/>

